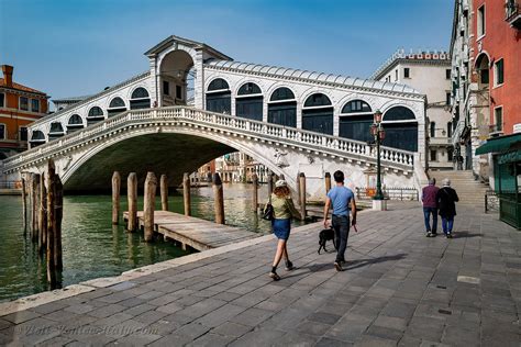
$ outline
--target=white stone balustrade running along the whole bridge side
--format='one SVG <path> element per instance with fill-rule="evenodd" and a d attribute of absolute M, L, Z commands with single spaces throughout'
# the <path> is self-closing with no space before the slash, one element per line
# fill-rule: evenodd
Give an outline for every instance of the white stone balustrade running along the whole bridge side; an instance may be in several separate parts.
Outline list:
<path fill-rule="evenodd" d="M 334 156 L 375 163 L 376 150 L 365 142 L 341 138 L 295 127 L 251 121 L 232 115 L 208 112 L 188 107 L 171 107 L 126 111 L 101 123 L 90 125 L 58 139 L 48 142 L 3 160 L 4 171 L 48 157 L 66 148 L 110 136 L 110 133 L 130 125 L 206 126 L 237 135 L 256 137 L 260 141 L 279 142 L 287 145 L 319 150 Z M 391 147 L 380 147 L 384 166 L 411 171 L 414 153 Z"/>

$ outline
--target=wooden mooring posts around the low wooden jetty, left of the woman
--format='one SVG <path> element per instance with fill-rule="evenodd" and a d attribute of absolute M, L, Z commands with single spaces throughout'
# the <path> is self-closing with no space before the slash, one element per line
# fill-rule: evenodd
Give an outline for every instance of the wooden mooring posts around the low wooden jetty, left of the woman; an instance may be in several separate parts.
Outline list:
<path fill-rule="evenodd" d="M 119 171 L 112 175 L 112 224 L 119 224 L 120 219 L 120 190 L 121 176 Z M 135 172 L 129 174 L 126 179 L 126 197 L 129 203 L 129 217 L 126 230 L 135 232 L 140 228 L 137 219 L 137 176 Z M 157 191 L 157 178 L 154 172 L 147 172 L 144 182 L 143 193 L 143 233 L 144 240 L 152 242 L 154 236 L 154 212 Z M 168 178 L 162 175 L 159 178 L 159 192 L 162 210 L 168 211 Z M 215 206 L 215 223 L 224 224 L 224 195 L 222 181 L 219 174 L 213 175 L 213 195 Z M 185 215 L 191 215 L 190 177 L 189 174 L 182 176 L 182 197 Z"/>

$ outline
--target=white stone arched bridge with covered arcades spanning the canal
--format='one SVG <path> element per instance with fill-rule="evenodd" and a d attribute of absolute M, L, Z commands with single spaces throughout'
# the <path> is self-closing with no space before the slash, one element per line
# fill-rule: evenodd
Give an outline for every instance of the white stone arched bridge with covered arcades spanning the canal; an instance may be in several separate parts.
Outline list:
<path fill-rule="evenodd" d="M 182 172 L 240 150 L 296 187 L 323 194 L 326 171 L 367 186 L 376 153 L 373 113 L 384 113 L 384 183 L 425 180 L 425 98 L 403 85 L 233 61 L 170 36 L 145 53 L 151 69 L 30 126 L 25 153 L 3 160 L 8 179 L 53 158 L 69 191 L 107 189 L 112 171 Z M 193 89 L 192 91 L 190 89 Z M 193 94 L 193 107 L 187 107 Z"/>

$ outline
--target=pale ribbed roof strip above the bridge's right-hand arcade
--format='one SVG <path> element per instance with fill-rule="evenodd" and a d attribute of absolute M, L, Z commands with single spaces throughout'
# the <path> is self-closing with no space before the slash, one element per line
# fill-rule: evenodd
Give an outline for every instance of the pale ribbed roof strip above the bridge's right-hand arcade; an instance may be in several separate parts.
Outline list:
<path fill-rule="evenodd" d="M 242 72 L 270 75 L 273 77 L 279 77 L 279 78 L 295 78 L 295 79 L 304 79 L 304 80 L 309 80 L 313 82 L 335 83 L 335 85 L 342 85 L 342 86 L 351 87 L 355 89 L 370 89 L 370 90 L 377 90 L 377 91 L 387 91 L 387 92 L 390 91 L 390 92 L 398 92 L 398 93 L 423 96 L 421 91 L 414 88 L 411 88 L 409 86 L 385 82 L 385 81 L 377 81 L 374 79 L 363 79 L 363 78 L 341 76 L 341 75 L 334 75 L 334 74 L 299 70 L 299 69 L 285 68 L 285 67 L 278 67 L 278 66 L 248 64 L 248 63 L 230 61 L 230 60 L 209 60 L 206 63 L 206 65 L 215 67 L 215 68 L 222 68 L 222 69 L 240 70 Z"/>

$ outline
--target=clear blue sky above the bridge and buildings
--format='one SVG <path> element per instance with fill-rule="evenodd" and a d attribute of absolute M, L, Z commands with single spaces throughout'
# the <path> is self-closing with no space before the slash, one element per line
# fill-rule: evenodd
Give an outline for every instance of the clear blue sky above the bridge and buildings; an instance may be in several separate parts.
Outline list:
<path fill-rule="evenodd" d="M 169 35 L 239 61 L 368 77 L 397 48 L 448 49 L 454 0 L 0 0 L 0 64 L 54 98 L 148 68 Z"/>

